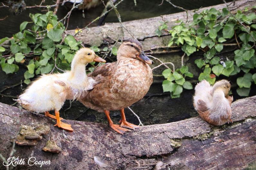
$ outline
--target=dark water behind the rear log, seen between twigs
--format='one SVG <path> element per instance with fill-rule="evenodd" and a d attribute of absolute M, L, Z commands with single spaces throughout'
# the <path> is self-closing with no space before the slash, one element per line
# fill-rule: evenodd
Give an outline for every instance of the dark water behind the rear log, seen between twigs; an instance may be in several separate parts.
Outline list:
<path fill-rule="evenodd" d="M 0 0 L 1 2 L 1 0 Z M 5 2 L 5 1 L 3 1 Z M 125 0 L 121 4 L 118 5 L 118 11 L 121 15 L 122 21 L 131 21 L 143 18 L 156 17 L 164 14 L 178 13 L 182 12 L 182 10 L 174 8 L 172 5 L 167 3 L 166 1 L 161 4 L 162 0 L 137 0 L 137 5 L 134 5 L 133 0 Z M 185 9 L 192 10 L 198 9 L 200 7 L 212 6 L 216 4 L 222 4 L 222 0 L 214 0 L 214 1 L 205 1 L 205 0 L 172 0 L 173 4 L 181 6 Z M 41 0 L 25 0 L 27 6 L 34 6 L 35 4 L 39 5 Z M 52 0 L 46 0 L 42 5 L 51 5 L 55 4 Z M 2 5 L 0 5 L 2 6 Z M 100 16 L 102 10 L 104 9 L 103 4 L 85 11 L 85 17 L 82 17 L 82 11 L 73 11 L 71 13 L 71 18 L 68 25 L 68 30 L 75 28 L 83 28 L 88 23 L 90 23 L 93 19 Z M 5 20 L 0 21 L 0 38 L 3 37 L 12 37 L 13 34 L 19 31 L 19 26 L 23 21 L 31 21 L 29 18 L 29 13 L 46 13 L 44 8 L 29 8 L 26 9 L 19 15 L 14 15 L 9 11 L 8 8 L 2 7 L 0 8 L 0 19 L 8 16 Z M 53 8 L 52 8 L 53 10 Z M 65 6 L 60 6 L 58 10 L 58 17 L 63 18 L 69 8 Z M 117 16 L 115 12 L 112 10 L 107 16 L 106 22 L 118 22 Z M 97 22 L 93 23 L 91 26 L 96 26 Z M 147 26 L 145 25 L 145 29 Z"/>

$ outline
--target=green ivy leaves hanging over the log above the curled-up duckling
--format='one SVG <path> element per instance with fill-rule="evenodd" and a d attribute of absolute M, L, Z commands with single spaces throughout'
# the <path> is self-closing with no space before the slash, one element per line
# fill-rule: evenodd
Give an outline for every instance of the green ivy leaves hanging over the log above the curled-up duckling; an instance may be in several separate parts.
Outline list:
<path fill-rule="evenodd" d="M 198 80 L 206 80 L 214 84 L 216 77 L 224 75 L 234 76 L 243 72 L 242 77 L 236 79 L 238 88 L 236 92 L 240 96 L 248 96 L 251 84 L 256 84 L 256 14 L 253 12 L 256 6 L 246 7 L 232 14 L 227 8 L 218 11 L 215 8 L 206 9 L 193 15 L 193 21 L 185 24 L 176 21 L 178 25 L 168 30 L 167 22 L 161 22 L 156 30 L 156 35 L 161 36 L 163 31 L 171 35 L 168 47 L 179 46 L 187 56 L 197 51 L 204 52 L 204 58 L 196 59 L 195 64 L 202 70 Z M 220 52 L 224 51 L 225 42 L 234 42 L 239 49 L 233 50 L 234 57 L 223 59 Z M 255 49 L 254 49 L 255 48 Z M 193 77 L 188 72 L 188 67 L 172 72 L 170 69 L 163 71 L 166 78 L 163 81 L 164 92 L 169 91 L 172 98 L 180 97 L 185 89 L 192 89 L 192 85 L 185 80 Z"/>

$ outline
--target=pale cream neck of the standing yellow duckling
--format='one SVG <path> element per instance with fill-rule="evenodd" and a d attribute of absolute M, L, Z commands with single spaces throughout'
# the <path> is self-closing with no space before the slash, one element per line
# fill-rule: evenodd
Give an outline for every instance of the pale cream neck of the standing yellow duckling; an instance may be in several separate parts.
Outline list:
<path fill-rule="evenodd" d="M 77 86 L 86 86 L 88 84 L 85 64 L 80 63 L 76 58 L 71 63 L 71 83 Z"/>

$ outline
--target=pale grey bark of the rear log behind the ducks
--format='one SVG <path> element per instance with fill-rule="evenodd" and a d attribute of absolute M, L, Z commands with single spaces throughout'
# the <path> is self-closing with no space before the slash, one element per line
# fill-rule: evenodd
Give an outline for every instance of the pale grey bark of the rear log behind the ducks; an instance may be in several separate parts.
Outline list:
<path fill-rule="evenodd" d="M 231 4 L 231 2 L 227 4 Z M 234 5 L 231 4 L 229 6 L 229 9 L 232 12 L 236 12 L 237 10 L 244 9 L 246 6 L 254 6 L 255 4 L 255 0 L 239 0 L 235 1 Z M 197 12 L 201 12 L 205 9 L 210 8 L 216 8 L 217 10 L 220 10 L 225 7 L 226 4 L 219 4 L 202 8 Z M 158 29 L 158 26 L 161 25 L 159 21 L 168 21 L 166 24 L 168 28 L 171 28 L 172 26 L 177 25 L 177 23 L 175 23 L 175 21 L 177 20 L 186 22 L 186 19 L 188 19 L 188 22 L 193 21 L 193 14 L 193 12 L 189 11 L 188 18 L 186 12 L 181 12 L 169 15 L 162 15 L 159 17 L 122 22 L 123 26 L 129 31 L 128 32 L 126 29 L 123 29 L 124 39 L 134 37 L 141 41 L 144 49 L 150 49 L 152 47 L 158 46 L 167 46 L 171 36 L 168 35 L 166 32 L 163 32 L 162 36 L 158 37 L 155 32 L 155 30 Z M 75 30 L 68 30 L 67 33 L 74 35 Z M 133 37 L 130 35 L 130 33 Z M 120 38 L 120 36 L 122 36 L 122 27 L 120 26 L 120 23 L 106 23 L 103 26 L 91 27 L 83 30 L 82 33 L 79 33 L 79 35 L 77 35 L 77 39 L 82 41 L 86 45 L 100 46 L 103 42 L 108 42 L 111 44 L 113 43 L 113 39 L 117 40 L 118 38 Z"/>

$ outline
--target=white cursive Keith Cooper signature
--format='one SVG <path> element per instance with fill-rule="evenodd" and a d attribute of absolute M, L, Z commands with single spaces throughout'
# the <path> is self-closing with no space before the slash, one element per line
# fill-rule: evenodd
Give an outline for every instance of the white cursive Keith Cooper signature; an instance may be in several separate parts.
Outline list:
<path fill-rule="evenodd" d="M 15 158 L 15 157 L 9 157 L 7 159 L 7 162 L 3 162 L 4 166 L 17 166 L 17 165 L 25 165 L 25 158 L 21 158 L 19 159 L 19 157 Z M 33 165 L 40 165 L 40 167 L 42 167 L 43 165 L 50 165 L 51 161 L 37 161 L 35 157 L 29 157 L 27 164 L 29 166 L 33 166 Z"/>

